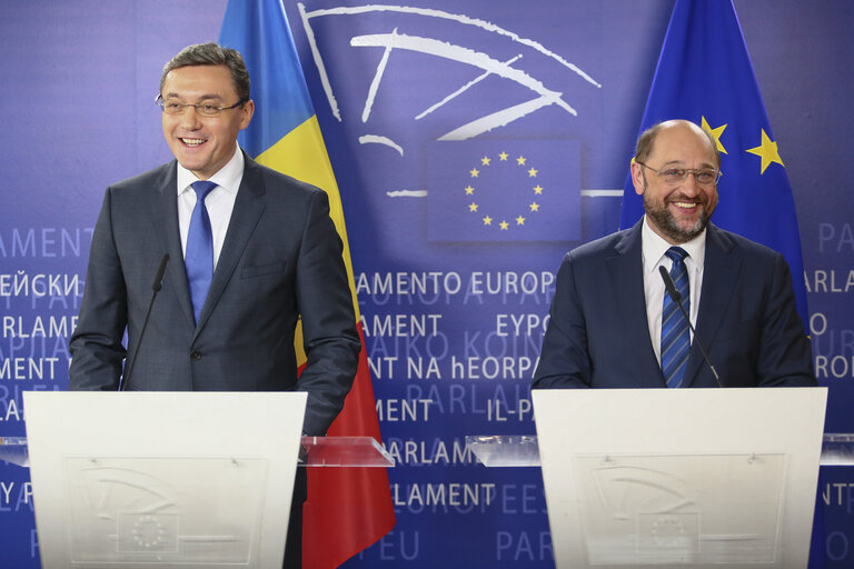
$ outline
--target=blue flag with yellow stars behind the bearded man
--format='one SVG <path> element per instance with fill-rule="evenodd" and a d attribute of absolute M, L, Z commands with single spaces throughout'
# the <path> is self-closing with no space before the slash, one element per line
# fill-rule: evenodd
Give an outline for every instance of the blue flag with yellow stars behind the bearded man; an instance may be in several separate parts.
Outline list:
<path fill-rule="evenodd" d="M 676 1 L 640 131 L 668 119 L 691 120 L 715 137 L 723 176 L 712 221 L 783 253 L 806 326 L 792 187 L 731 1 Z M 632 227 L 643 213 L 643 197 L 635 193 L 629 174 L 620 228 Z"/>

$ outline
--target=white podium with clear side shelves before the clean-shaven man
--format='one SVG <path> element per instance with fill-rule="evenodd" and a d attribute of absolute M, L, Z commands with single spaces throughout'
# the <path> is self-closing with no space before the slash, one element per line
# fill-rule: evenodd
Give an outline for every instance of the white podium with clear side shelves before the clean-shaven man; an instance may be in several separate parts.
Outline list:
<path fill-rule="evenodd" d="M 370 438 L 300 437 L 300 392 L 26 392 L 42 567 L 280 568 L 298 462 L 394 466 Z"/>

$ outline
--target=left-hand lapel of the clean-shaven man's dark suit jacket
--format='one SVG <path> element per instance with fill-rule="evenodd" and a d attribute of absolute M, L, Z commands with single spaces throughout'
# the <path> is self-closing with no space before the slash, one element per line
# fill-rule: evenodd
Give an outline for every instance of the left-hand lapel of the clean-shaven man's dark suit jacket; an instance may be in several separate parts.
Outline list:
<path fill-rule="evenodd" d="M 169 253 L 168 279 L 165 279 L 165 282 L 172 288 L 185 317 L 190 326 L 193 326 L 192 302 L 190 302 L 190 289 L 187 283 L 187 271 L 183 268 L 183 251 L 178 229 L 177 162 L 172 160 L 165 168 L 165 174 L 158 183 L 160 196 L 151 214 L 151 230 L 160 237 L 163 251 Z"/>

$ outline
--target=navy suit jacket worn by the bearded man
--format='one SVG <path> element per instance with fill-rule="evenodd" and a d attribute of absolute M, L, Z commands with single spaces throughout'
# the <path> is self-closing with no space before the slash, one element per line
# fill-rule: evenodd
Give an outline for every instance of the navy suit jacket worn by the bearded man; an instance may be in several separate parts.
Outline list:
<path fill-rule="evenodd" d="M 643 220 L 564 257 L 534 388 L 665 388 L 646 320 Z M 814 386 L 783 256 L 712 224 L 697 337 L 724 387 Z M 717 387 L 696 341 L 684 387 Z"/>

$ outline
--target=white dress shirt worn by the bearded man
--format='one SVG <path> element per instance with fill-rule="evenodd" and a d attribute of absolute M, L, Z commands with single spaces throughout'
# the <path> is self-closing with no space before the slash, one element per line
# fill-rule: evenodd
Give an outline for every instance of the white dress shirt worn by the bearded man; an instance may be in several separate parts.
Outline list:
<path fill-rule="evenodd" d="M 644 293 L 646 296 L 646 322 L 649 325 L 649 338 L 653 340 L 653 350 L 662 363 L 662 309 L 664 307 L 665 287 L 658 267 L 664 267 L 669 272 L 673 261 L 665 254 L 673 247 L 653 231 L 649 221 L 644 216 L 644 224 L 640 233 L 640 244 L 644 256 Z M 706 230 L 686 243 L 678 247 L 688 253 L 685 257 L 685 267 L 688 270 L 688 290 L 691 291 L 691 308 L 688 317 L 692 326 L 697 325 L 697 309 L 699 308 L 699 292 L 703 288 L 703 264 L 706 257 Z M 691 335 L 694 341 L 694 333 Z"/>

